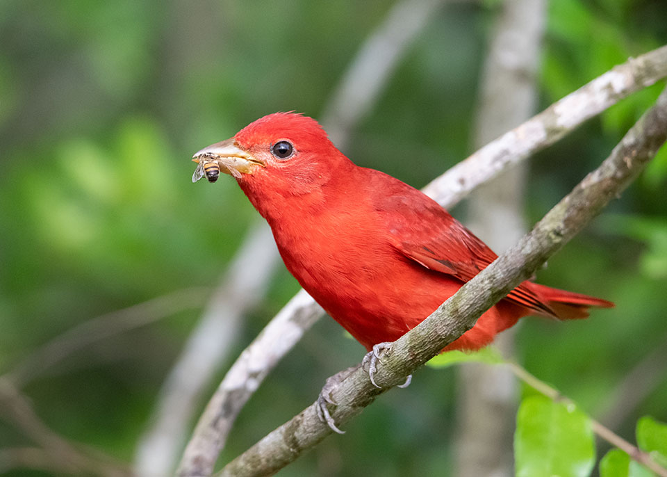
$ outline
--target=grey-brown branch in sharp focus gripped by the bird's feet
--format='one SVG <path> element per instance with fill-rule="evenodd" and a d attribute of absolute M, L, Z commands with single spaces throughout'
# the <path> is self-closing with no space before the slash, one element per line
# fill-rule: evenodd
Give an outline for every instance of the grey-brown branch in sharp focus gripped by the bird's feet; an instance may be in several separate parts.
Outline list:
<path fill-rule="evenodd" d="M 336 423 L 346 423 L 390 387 L 400 385 L 447 344 L 475 325 L 489 307 L 526 280 L 618 197 L 652 159 L 667 138 L 667 89 L 630 129 L 600 167 L 588 174 L 549 211 L 529 234 L 482 270 L 420 325 L 397 339 L 383 355 L 375 388 L 357 369 L 333 391 Z M 219 476 L 272 474 L 331 434 L 318 419 L 316 403 L 283 424 L 224 467 Z"/>

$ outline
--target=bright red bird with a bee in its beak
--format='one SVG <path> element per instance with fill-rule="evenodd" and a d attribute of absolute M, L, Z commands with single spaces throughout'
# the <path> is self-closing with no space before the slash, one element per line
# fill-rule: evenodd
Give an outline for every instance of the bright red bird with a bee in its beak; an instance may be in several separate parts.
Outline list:
<path fill-rule="evenodd" d="M 193 181 L 215 181 L 217 168 L 236 177 L 290 273 L 367 350 L 418 325 L 497 257 L 424 193 L 352 163 L 302 115 L 267 115 L 194 160 Z M 477 350 L 522 316 L 585 318 L 591 306 L 614 304 L 523 282 L 445 350 Z"/>

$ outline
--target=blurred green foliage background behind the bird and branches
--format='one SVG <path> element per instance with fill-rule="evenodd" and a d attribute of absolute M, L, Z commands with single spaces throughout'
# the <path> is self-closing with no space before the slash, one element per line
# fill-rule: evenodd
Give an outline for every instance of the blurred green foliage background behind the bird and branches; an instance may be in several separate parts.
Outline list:
<path fill-rule="evenodd" d="M 229 177 L 192 184 L 193 152 L 294 110 L 331 124 L 359 165 L 425 186 L 481 145 L 485 58 L 505 3 L 1 1 L 0 375 L 13 391 L 0 401 L 0 475 L 112 475 L 43 451 L 49 432 L 101 451 L 111 467 L 140 460 L 160 389 L 258 222 Z M 557 0 L 541 15 L 534 112 L 667 43 L 663 0 Z M 347 118 L 361 100 L 346 106 L 341 85 L 379 34 L 400 46 Z M 525 226 L 611 152 L 662 88 L 531 159 Z M 566 324 L 527 319 L 509 351 L 629 440 L 639 416 L 667 421 L 666 186 L 663 149 L 538 273 L 616 308 Z M 453 213 L 475 223 L 466 202 Z M 229 364 L 299 289 L 282 264 L 267 273 L 192 399 L 188 434 Z M 362 354 L 330 318 L 318 322 L 242 411 L 220 462 Z M 280 475 L 465 475 L 460 373 L 423 369 Z"/>

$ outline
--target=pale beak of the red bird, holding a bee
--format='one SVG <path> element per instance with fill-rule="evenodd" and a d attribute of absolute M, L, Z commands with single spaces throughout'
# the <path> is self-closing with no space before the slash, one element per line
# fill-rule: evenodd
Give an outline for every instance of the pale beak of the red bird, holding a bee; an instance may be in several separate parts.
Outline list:
<path fill-rule="evenodd" d="M 242 174 L 252 174 L 256 168 L 265 165 L 263 161 L 254 158 L 254 156 L 238 147 L 234 138 L 204 147 L 204 149 L 195 152 L 192 161 L 199 164 L 195 175 L 192 176 L 193 182 L 203 177 L 204 168 L 210 163 L 217 163 L 220 166 L 220 172 L 231 174 L 234 177 L 241 177 Z"/>

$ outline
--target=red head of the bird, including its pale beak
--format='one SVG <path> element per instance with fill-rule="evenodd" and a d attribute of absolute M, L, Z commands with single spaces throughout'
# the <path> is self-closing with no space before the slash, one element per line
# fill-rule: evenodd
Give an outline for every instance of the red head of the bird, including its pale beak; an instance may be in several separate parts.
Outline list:
<path fill-rule="evenodd" d="M 304 195 L 322 202 L 324 184 L 354 168 L 317 121 L 296 113 L 264 116 L 193 157 L 199 164 L 193 181 L 203 177 L 207 164 L 217 164 L 263 215 L 267 202 L 280 207 L 283 200 Z"/>

